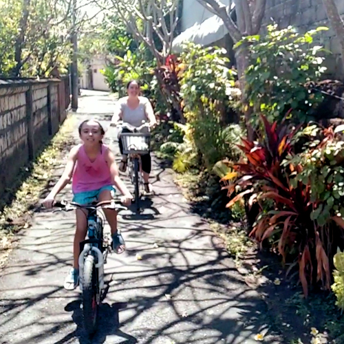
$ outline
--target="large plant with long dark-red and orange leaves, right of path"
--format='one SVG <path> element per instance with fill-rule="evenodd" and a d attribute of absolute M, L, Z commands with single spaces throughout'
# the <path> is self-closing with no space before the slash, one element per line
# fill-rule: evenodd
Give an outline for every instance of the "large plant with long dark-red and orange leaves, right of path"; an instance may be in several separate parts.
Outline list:
<path fill-rule="evenodd" d="M 270 124 L 264 116 L 261 119 L 264 135 L 258 142 L 242 140 L 239 148 L 246 161 L 233 164 L 235 172 L 222 178 L 228 196 L 235 195 L 228 207 L 244 195 L 250 197 L 249 204 L 258 202 L 260 213 L 250 235 L 259 243 L 270 238 L 283 264 L 289 265 L 287 274 L 298 266 L 306 297 L 308 287 L 319 281 L 324 289 L 330 290 L 332 257 L 338 239 L 343 242 L 341 229 L 333 221 L 320 226 L 314 220 L 312 212 L 323 201 L 312 199 L 311 182 L 294 178 L 303 169 L 302 164 L 293 164 L 290 159 L 294 155 L 293 139 L 300 128 Z M 330 136 L 331 131 L 327 130 L 318 147 Z"/>

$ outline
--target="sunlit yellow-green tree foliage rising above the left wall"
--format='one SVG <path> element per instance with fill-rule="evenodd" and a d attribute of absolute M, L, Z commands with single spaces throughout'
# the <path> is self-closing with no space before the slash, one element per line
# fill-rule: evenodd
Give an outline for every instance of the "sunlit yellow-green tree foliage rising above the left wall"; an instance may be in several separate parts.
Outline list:
<path fill-rule="evenodd" d="M 92 17 L 78 0 L 76 30 Z M 0 0 L 1 76 L 45 76 L 67 67 L 71 52 L 72 0 Z"/>

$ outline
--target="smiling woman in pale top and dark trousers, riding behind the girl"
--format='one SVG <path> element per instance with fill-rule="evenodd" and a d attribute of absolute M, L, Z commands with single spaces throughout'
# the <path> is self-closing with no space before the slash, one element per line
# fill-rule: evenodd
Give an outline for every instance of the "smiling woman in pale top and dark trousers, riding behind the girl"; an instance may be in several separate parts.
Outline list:
<path fill-rule="evenodd" d="M 149 127 L 156 125 L 153 107 L 149 100 L 140 96 L 140 84 L 136 80 L 131 80 L 127 84 L 128 96 L 120 98 L 116 103 L 114 116 L 111 119 L 111 126 L 118 125 L 118 121 L 128 123 L 132 127 L 141 127 L 142 122 L 149 122 Z M 147 127 L 141 129 L 148 131 Z M 123 133 L 129 133 L 131 130 L 127 128 L 122 129 Z M 127 169 L 127 155 L 123 154 L 122 141 L 119 140 L 120 153 L 122 154 L 122 161 L 120 162 L 119 170 L 125 172 Z M 151 185 L 149 184 L 149 174 L 151 173 L 151 155 L 150 153 L 141 155 L 142 177 L 144 180 L 144 191 L 151 192 Z"/>

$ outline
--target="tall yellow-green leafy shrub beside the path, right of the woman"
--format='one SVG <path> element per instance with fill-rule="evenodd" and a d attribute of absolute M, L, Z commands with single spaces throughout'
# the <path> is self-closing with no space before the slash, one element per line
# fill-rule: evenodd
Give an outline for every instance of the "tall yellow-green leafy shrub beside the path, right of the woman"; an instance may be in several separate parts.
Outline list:
<path fill-rule="evenodd" d="M 199 45 L 186 45 L 178 65 L 180 94 L 183 98 L 184 116 L 188 121 L 193 153 L 208 171 L 224 158 L 239 156 L 235 142 L 242 133 L 239 125 L 228 125 L 230 100 L 237 94 L 235 71 L 228 69 L 226 51 L 217 47 L 202 48 Z M 191 145 L 189 144 L 189 148 Z M 186 150 L 189 151 L 189 150 Z M 178 171 L 184 170 L 177 159 Z"/>

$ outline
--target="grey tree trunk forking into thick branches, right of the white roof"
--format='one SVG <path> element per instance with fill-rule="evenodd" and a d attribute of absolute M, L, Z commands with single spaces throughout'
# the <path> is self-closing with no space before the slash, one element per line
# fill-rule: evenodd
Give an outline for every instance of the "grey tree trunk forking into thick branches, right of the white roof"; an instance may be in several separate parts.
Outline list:
<path fill-rule="evenodd" d="M 232 37 L 234 43 L 238 43 L 245 36 L 253 36 L 259 33 L 261 28 L 261 22 L 264 18 L 266 0 L 234 0 L 235 10 L 237 12 L 237 23 L 230 17 L 230 13 L 226 6 L 219 0 L 197 0 L 204 8 L 216 14 L 224 21 L 228 33 Z M 231 1 L 230 6 L 231 8 Z M 242 94 L 243 103 L 247 103 L 246 100 L 246 82 L 245 82 L 245 70 L 248 67 L 248 46 L 241 44 L 237 48 L 236 61 L 237 72 L 239 76 L 240 89 Z M 248 137 L 253 138 L 254 133 L 250 126 L 250 110 L 245 111 L 246 127 L 248 129 Z"/>

